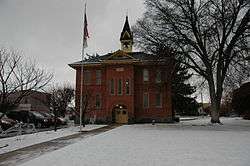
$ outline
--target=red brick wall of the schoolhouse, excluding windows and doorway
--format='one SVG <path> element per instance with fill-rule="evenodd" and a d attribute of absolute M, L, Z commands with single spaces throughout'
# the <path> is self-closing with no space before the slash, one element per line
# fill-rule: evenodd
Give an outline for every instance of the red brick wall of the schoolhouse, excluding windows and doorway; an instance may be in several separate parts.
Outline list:
<path fill-rule="evenodd" d="M 143 82 L 143 69 L 149 70 L 149 82 Z M 83 93 L 90 91 L 92 96 L 86 119 L 96 115 L 97 121 L 111 122 L 113 108 L 120 104 L 127 107 L 129 123 L 151 122 L 153 119 L 159 122 L 171 120 L 171 86 L 168 81 L 168 71 L 160 66 L 134 66 L 134 65 L 98 65 L 85 67 L 91 73 L 91 83 L 83 85 Z M 102 70 L 102 83 L 96 85 L 96 70 Z M 156 71 L 162 70 L 162 83 L 156 84 Z M 80 108 L 80 68 L 76 69 L 76 108 Z M 110 80 L 114 80 L 114 95 L 110 94 Z M 118 80 L 122 80 L 122 95 L 117 93 Z M 125 93 L 125 81 L 130 80 L 130 94 Z M 166 81 L 163 81 L 166 80 Z M 155 94 L 162 93 L 162 107 L 155 106 Z M 149 107 L 143 108 L 143 93 L 149 93 Z M 95 96 L 101 94 L 101 108 L 95 108 Z"/>

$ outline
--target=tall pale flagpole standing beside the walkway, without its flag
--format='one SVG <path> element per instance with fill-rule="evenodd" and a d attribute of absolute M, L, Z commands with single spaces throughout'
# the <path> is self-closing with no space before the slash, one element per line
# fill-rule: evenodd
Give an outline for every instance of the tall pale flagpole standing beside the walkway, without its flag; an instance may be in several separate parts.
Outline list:
<path fill-rule="evenodd" d="M 86 14 L 86 3 L 85 3 L 85 8 L 84 8 L 84 13 L 83 13 L 83 18 L 84 18 L 84 23 L 85 23 L 85 14 Z M 83 25 L 85 27 L 85 25 Z M 82 107 L 83 107 L 83 60 L 84 60 L 84 43 L 85 43 L 85 32 L 84 32 L 84 28 L 83 28 L 83 43 L 82 43 L 82 63 L 81 63 L 81 88 L 80 88 L 80 132 L 82 131 Z"/>

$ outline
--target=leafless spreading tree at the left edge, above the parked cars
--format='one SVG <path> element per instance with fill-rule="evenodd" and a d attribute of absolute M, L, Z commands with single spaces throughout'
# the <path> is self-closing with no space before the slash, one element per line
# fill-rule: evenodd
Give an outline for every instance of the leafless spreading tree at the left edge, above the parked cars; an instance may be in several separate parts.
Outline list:
<path fill-rule="evenodd" d="M 0 48 L 0 111 L 17 106 L 23 97 L 42 90 L 52 78 L 52 73 L 36 63 L 24 61 L 20 51 Z"/>

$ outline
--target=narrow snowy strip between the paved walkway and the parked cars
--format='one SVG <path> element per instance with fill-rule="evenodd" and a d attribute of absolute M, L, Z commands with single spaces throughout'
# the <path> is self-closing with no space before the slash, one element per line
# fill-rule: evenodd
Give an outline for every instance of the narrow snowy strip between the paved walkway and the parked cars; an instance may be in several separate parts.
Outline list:
<path fill-rule="evenodd" d="M 84 128 L 82 128 L 82 131 L 90 131 L 104 126 L 106 125 L 86 125 Z M 34 134 L 20 135 L 16 137 L 3 138 L 0 139 L 0 147 L 3 147 L 0 148 L 0 154 L 31 146 L 34 144 L 50 141 L 60 137 L 73 135 L 79 133 L 79 131 L 79 126 L 72 126 L 68 128 L 58 129 L 56 132 L 52 130 L 38 132 Z"/>

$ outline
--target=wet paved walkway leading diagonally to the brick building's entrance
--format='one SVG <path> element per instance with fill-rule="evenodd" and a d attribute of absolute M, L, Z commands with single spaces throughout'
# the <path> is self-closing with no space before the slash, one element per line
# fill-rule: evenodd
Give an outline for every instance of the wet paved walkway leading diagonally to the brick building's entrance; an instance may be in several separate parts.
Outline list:
<path fill-rule="evenodd" d="M 17 164 L 27 162 L 45 153 L 61 149 L 67 145 L 73 144 L 87 137 L 112 130 L 119 126 L 120 125 L 118 124 L 113 124 L 102 128 L 94 129 L 91 131 L 84 131 L 74 135 L 57 138 L 48 142 L 43 142 L 40 144 L 32 145 L 12 152 L 1 154 L 0 166 L 14 166 Z"/>

